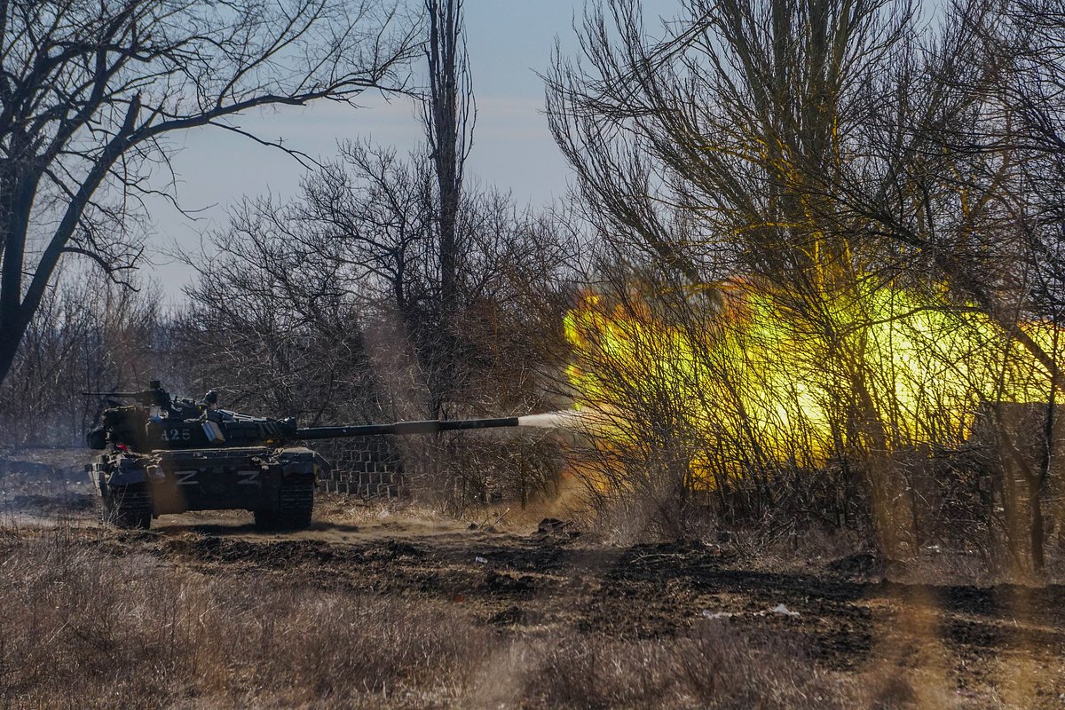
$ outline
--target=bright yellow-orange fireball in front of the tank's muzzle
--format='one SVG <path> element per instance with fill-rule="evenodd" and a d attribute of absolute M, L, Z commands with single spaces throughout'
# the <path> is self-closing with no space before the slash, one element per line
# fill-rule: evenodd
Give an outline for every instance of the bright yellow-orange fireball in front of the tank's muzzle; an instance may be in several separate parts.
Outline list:
<path fill-rule="evenodd" d="M 607 413 L 615 446 L 685 432 L 692 467 L 818 467 L 854 450 L 955 445 L 983 400 L 1047 401 L 1046 370 L 977 309 L 894 285 L 797 309 L 732 279 L 683 302 L 585 293 L 566 317 L 578 408 Z M 1058 353 L 1061 330 L 1020 326 Z"/>

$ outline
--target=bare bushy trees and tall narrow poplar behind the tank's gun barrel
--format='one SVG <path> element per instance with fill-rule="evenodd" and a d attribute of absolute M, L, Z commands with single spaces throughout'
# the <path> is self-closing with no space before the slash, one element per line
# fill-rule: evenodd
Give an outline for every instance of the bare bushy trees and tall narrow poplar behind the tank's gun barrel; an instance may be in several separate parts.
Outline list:
<path fill-rule="evenodd" d="M 249 201 L 189 291 L 185 341 L 214 353 L 230 390 L 269 393 L 267 408 L 345 419 L 543 409 L 541 370 L 561 365 L 569 245 L 550 216 L 470 187 L 463 3 L 425 10 L 426 145 L 343 144 L 296 199 Z M 412 468 L 461 510 L 490 488 L 524 501 L 550 484 L 557 462 L 539 440 L 404 446 L 424 447 Z"/>

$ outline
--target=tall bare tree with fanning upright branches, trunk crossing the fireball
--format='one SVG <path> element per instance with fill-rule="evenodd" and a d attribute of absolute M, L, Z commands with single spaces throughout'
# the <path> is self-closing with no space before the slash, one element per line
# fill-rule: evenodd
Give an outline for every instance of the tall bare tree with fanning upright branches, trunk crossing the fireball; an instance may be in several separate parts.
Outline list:
<path fill-rule="evenodd" d="M 591 211 L 607 215 L 606 238 L 692 282 L 752 278 L 810 333 L 848 385 L 834 391 L 840 453 L 866 459 L 885 547 L 913 550 L 862 316 L 838 308 L 890 276 L 861 248 L 865 224 L 839 209 L 836 187 L 861 150 L 864 87 L 911 17 L 880 1 L 688 0 L 650 40 L 639 3 L 610 0 L 586 15 L 587 64 L 558 59 L 548 73 L 547 112 Z"/>

